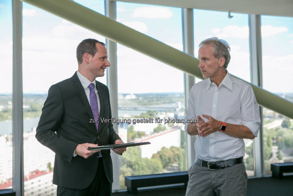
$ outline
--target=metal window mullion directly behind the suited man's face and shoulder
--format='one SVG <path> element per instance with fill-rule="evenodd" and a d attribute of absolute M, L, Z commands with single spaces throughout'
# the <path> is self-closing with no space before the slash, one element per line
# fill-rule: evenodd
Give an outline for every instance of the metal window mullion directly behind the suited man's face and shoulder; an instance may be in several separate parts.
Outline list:
<path fill-rule="evenodd" d="M 116 20 L 116 1 L 105 1 L 105 16 Z M 106 47 L 110 67 L 107 71 L 107 85 L 110 93 L 110 103 L 112 117 L 118 118 L 118 82 L 117 82 L 117 43 L 106 39 Z M 118 133 L 118 125 L 113 124 L 113 128 Z M 111 153 L 113 160 L 113 179 L 112 190 L 120 189 L 120 156 L 116 153 Z"/>

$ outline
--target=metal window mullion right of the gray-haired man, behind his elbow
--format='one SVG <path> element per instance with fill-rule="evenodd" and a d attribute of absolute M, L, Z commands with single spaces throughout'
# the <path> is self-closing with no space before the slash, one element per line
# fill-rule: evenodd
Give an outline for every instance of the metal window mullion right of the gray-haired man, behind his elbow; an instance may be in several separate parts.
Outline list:
<path fill-rule="evenodd" d="M 251 83 L 263 87 L 262 79 L 262 46 L 261 46 L 261 22 L 260 15 L 249 14 L 249 50 L 250 50 L 250 77 Z M 264 156 L 263 156 L 263 110 L 260 107 L 261 126 L 258 137 L 254 139 L 254 163 L 255 176 L 263 177 L 264 175 Z"/>

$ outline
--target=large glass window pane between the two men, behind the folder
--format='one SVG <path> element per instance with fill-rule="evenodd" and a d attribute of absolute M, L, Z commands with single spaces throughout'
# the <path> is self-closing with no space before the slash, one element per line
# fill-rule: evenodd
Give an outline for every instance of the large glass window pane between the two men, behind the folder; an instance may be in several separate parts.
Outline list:
<path fill-rule="evenodd" d="M 117 21 L 182 50 L 179 8 L 117 2 Z M 187 170 L 184 125 L 165 123 L 184 118 L 183 72 L 120 44 L 117 63 L 118 116 L 130 120 L 119 124 L 119 135 L 151 142 L 123 153 L 121 188 L 125 176 Z M 153 121 L 133 123 L 138 119 Z"/>

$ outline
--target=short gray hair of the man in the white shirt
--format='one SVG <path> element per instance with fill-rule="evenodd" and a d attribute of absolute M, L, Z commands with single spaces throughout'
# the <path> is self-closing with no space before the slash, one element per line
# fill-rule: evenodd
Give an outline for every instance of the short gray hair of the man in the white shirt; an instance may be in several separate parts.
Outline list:
<path fill-rule="evenodd" d="M 228 67 L 228 64 L 230 62 L 230 46 L 229 43 L 227 43 L 223 39 L 219 39 L 217 37 L 207 38 L 204 41 L 200 42 L 200 45 L 198 47 L 212 45 L 214 48 L 214 56 L 215 58 L 219 59 L 224 57 L 225 58 L 225 64 L 224 68 L 226 69 Z"/>

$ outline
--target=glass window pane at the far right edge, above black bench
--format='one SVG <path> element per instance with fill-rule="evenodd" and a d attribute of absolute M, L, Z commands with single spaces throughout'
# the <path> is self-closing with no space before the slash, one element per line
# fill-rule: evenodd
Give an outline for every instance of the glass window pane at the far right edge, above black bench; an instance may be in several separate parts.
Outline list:
<path fill-rule="evenodd" d="M 261 16 L 263 88 L 293 102 L 293 18 Z M 293 161 L 293 120 L 263 108 L 265 174 Z"/>

